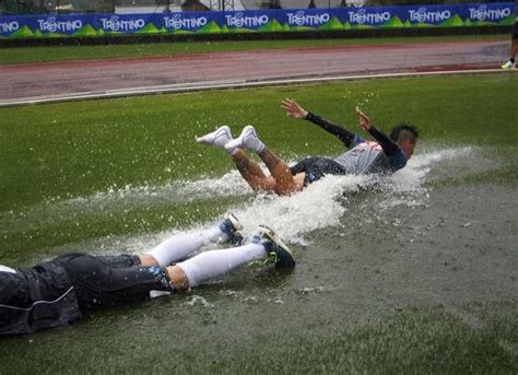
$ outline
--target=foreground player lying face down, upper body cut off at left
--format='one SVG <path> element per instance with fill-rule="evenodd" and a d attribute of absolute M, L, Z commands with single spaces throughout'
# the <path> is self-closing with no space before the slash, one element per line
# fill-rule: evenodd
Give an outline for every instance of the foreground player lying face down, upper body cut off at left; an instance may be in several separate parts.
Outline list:
<path fill-rule="evenodd" d="M 240 243 L 240 228 L 229 215 L 215 227 L 173 236 L 141 255 L 74 253 L 32 268 L 0 266 L 0 336 L 71 324 L 93 308 L 148 300 L 152 291 L 184 292 L 251 261 L 295 267 L 291 249 L 266 226 L 246 245 L 188 258 L 209 243 Z"/>

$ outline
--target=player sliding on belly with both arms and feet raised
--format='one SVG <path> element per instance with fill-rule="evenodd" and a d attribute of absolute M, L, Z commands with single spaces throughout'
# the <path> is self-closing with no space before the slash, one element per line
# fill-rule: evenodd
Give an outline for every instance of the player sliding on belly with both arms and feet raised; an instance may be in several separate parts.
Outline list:
<path fill-rule="evenodd" d="M 255 191 L 286 196 L 302 190 L 326 175 L 389 174 L 399 171 L 407 165 L 407 161 L 414 153 L 419 139 L 419 129 L 409 124 L 397 125 L 387 137 L 357 106 L 355 112 L 361 127 L 376 141 L 366 140 L 304 109 L 295 99 L 285 98 L 281 107 L 287 116 L 308 120 L 330 132 L 349 150 L 334 159 L 307 157 L 290 167 L 285 161 L 266 147 L 252 126 L 246 126 L 236 139 L 233 139 L 227 126 L 222 126 L 211 133 L 197 138 L 197 141 L 225 150 Z M 245 150 L 259 155 L 270 172 L 270 176 L 264 175 L 259 164 L 246 155 Z"/>

